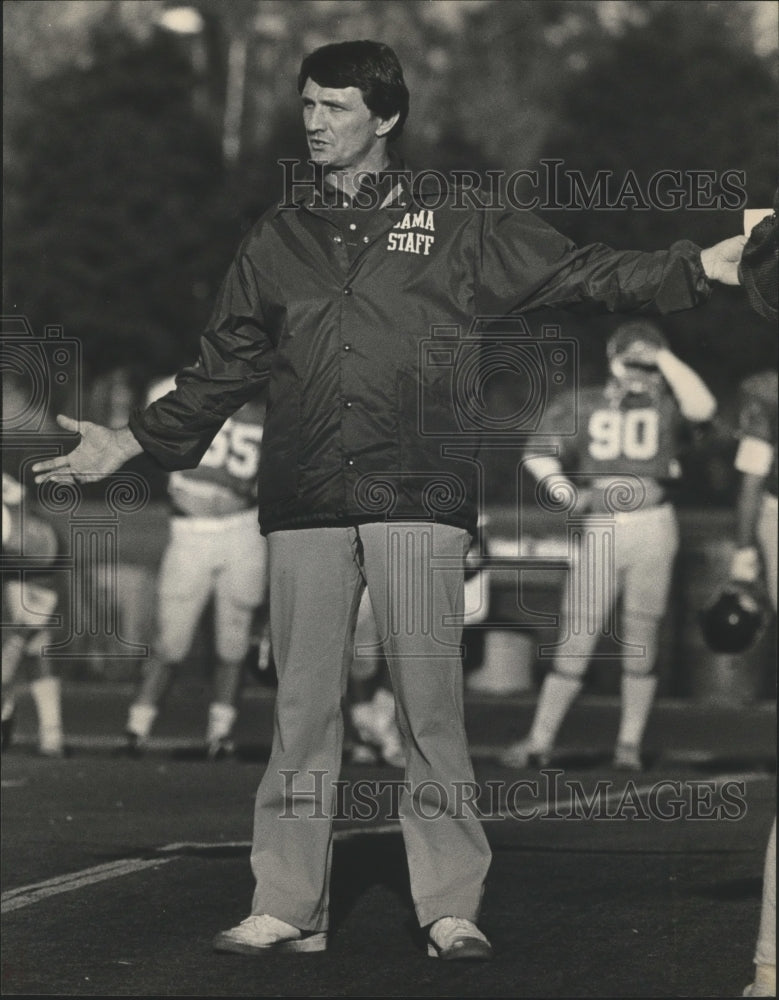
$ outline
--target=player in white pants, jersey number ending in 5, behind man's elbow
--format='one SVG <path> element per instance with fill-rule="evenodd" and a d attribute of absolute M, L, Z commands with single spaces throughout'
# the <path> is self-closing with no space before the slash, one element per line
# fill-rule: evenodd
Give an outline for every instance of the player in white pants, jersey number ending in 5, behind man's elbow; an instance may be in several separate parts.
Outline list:
<path fill-rule="evenodd" d="M 172 386 L 173 380 L 166 380 L 152 398 Z M 206 752 L 211 759 L 234 752 L 243 664 L 254 614 L 267 591 L 267 543 L 256 494 L 263 418 L 261 401 L 245 404 L 225 422 L 196 469 L 170 475 L 172 515 L 157 582 L 156 632 L 127 716 L 124 753 L 143 751 L 211 597 L 217 662 Z"/>

